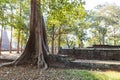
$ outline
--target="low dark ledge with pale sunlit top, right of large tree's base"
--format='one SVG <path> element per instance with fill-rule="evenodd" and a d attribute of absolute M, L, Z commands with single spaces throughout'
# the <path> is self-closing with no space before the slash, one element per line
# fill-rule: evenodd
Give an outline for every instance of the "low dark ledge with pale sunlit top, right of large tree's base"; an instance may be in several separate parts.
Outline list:
<path fill-rule="evenodd" d="M 120 61 L 72 59 L 67 55 L 51 55 L 49 58 L 50 65 L 56 68 L 120 71 Z"/>

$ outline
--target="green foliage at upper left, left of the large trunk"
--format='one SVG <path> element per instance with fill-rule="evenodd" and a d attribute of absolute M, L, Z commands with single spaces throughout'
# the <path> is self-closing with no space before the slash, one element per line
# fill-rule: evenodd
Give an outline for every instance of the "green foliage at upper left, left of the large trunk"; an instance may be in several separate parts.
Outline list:
<path fill-rule="evenodd" d="M 29 31 L 29 0 L 1 0 L 0 1 L 0 26 L 13 30 L 16 40 L 18 31 L 21 31 L 23 43 L 28 38 Z M 16 29 L 16 31 L 14 31 Z M 15 34 L 14 34 L 15 33 Z M 17 41 L 17 40 L 16 40 Z"/>

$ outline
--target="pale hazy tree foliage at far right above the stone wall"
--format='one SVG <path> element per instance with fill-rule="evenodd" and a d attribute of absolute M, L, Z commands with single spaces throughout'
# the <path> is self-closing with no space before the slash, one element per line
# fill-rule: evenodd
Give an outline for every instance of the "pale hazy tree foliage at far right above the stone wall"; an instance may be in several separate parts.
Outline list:
<path fill-rule="evenodd" d="M 119 14 L 120 8 L 115 4 L 98 5 L 92 13 L 91 39 L 92 44 L 119 44 Z M 90 42 L 91 43 L 91 42 Z"/>

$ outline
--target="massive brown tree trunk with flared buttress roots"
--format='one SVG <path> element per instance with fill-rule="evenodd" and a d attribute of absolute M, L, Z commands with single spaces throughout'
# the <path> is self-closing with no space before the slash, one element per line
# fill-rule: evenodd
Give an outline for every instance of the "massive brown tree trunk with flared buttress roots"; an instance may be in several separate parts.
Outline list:
<path fill-rule="evenodd" d="M 41 0 L 31 0 L 30 36 L 22 55 L 12 63 L 3 65 L 35 64 L 38 68 L 48 67 L 48 45 L 45 24 L 41 12 Z"/>

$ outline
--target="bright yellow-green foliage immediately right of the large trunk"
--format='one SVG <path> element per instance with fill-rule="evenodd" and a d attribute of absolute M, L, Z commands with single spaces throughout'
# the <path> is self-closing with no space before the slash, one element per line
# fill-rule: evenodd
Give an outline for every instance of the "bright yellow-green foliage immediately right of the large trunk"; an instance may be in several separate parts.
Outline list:
<path fill-rule="evenodd" d="M 75 32 L 74 28 L 77 27 L 77 25 L 87 15 L 83 7 L 83 2 L 77 0 L 75 1 L 58 0 L 58 1 L 48 1 L 48 3 L 49 3 L 47 6 L 48 33 L 50 33 L 49 28 L 55 25 L 56 40 L 57 37 L 61 35 L 61 44 L 64 45 L 66 44 L 64 37 L 66 37 L 67 34 L 73 34 L 73 32 Z M 61 29 L 60 34 L 59 34 L 59 29 Z"/>

